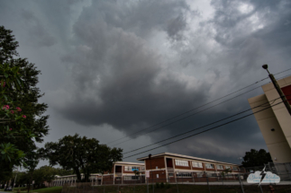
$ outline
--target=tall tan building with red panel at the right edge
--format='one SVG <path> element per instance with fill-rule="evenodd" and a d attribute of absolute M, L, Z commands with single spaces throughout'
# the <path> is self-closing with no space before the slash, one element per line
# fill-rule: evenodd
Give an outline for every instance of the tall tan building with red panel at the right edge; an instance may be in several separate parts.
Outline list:
<path fill-rule="evenodd" d="M 286 95 L 287 100 L 290 100 L 289 104 L 291 104 L 291 76 L 278 80 L 277 83 Z M 264 94 L 248 100 L 250 107 L 253 112 L 262 110 L 255 113 L 254 116 L 273 162 L 291 162 L 291 116 L 283 102 L 263 110 L 282 100 L 279 98 L 273 83 L 263 85 L 262 89 Z M 258 107 L 259 105 L 261 106 Z"/>

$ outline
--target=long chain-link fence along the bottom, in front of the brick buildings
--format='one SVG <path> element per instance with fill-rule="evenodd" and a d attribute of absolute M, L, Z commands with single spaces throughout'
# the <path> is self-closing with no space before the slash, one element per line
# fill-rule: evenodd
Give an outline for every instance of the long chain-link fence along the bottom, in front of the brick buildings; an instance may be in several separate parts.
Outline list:
<path fill-rule="evenodd" d="M 249 184 L 246 179 L 248 175 L 225 175 L 223 177 L 200 177 L 200 178 L 177 178 L 173 180 L 158 179 L 158 180 L 128 180 L 126 184 L 116 184 L 114 181 L 104 181 L 102 185 L 95 185 L 91 182 L 65 184 L 62 193 L 182 193 L 182 192 L 209 192 L 209 193 L 262 193 L 270 192 L 269 185 Z M 125 181 L 123 181 L 125 182 Z M 287 181 L 284 186 L 280 184 L 272 184 L 276 190 L 286 190 L 283 192 L 291 192 L 291 183 Z"/>

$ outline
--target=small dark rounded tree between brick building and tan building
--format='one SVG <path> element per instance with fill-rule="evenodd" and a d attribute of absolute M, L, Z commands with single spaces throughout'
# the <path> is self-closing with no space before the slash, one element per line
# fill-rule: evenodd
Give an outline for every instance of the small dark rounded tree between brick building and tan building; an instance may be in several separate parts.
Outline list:
<path fill-rule="evenodd" d="M 246 152 L 246 155 L 243 157 L 243 162 L 241 162 L 243 167 L 255 167 L 263 166 L 268 162 L 273 162 L 271 155 L 266 152 L 264 149 L 259 151 L 251 149 L 250 152 Z"/>

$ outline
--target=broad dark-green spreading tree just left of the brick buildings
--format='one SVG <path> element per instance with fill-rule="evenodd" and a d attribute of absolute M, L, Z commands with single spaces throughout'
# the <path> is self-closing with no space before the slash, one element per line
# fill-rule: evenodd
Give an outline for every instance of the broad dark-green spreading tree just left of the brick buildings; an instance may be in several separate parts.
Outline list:
<path fill-rule="evenodd" d="M 100 145 L 95 138 L 86 136 L 64 136 L 59 142 L 46 143 L 41 149 L 50 165 L 59 164 L 63 169 L 73 169 L 77 180 L 81 181 L 81 171 L 88 181 L 90 173 L 112 171 L 114 162 L 122 161 L 123 150 Z"/>

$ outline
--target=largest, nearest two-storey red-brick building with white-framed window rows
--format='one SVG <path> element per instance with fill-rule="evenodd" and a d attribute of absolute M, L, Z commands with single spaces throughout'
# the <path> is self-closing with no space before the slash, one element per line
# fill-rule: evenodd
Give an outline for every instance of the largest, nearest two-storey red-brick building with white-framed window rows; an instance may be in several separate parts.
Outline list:
<path fill-rule="evenodd" d="M 232 171 L 225 175 L 226 180 L 235 178 L 240 170 L 240 165 L 227 162 L 218 162 L 183 154 L 154 154 L 137 159 L 143 161 L 146 171 L 150 171 L 150 182 L 195 182 L 206 180 L 219 180 L 223 171 Z M 206 178 L 208 177 L 208 178 Z"/>

